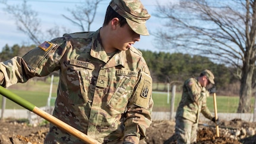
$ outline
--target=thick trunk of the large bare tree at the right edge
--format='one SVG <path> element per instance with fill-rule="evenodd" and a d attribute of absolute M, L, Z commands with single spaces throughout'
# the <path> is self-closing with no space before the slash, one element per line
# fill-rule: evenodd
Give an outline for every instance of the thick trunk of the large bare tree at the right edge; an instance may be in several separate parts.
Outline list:
<path fill-rule="evenodd" d="M 252 76 L 254 66 L 244 65 L 241 77 L 238 113 L 251 113 Z"/>

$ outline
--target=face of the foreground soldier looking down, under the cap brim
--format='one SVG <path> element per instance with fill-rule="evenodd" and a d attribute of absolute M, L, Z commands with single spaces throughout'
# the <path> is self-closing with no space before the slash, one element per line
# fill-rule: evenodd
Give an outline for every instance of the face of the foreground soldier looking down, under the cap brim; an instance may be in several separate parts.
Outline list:
<path fill-rule="evenodd" d="M 135 33 L 128 24 L 120 27 L 118 26 L 116 33 L 116 48 L 121 51 L 128 50 L 132 44 L 135 44 L 136 41 L 140 41 L 140 35 Z"/>

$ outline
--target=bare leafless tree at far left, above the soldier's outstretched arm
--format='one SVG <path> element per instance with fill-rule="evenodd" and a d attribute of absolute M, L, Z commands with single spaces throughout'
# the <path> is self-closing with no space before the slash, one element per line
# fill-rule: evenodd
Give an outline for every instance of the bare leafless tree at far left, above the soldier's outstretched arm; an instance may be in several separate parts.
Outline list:
<path fill-rule="evenodd" d="M 67 28 L 56 24 L 48 30 L 42 30 L 38 12 L 31 9 L 26 0 L 21 5 L 9 5 L 7 2 L 1 3 L 5 4 L 5 11 L 15 19 L 18 30 L 26 34 L 33 44 L 37 45 L 44 40 L 59 37 L 61 36 L 61 31 L 69 32 Z"/>

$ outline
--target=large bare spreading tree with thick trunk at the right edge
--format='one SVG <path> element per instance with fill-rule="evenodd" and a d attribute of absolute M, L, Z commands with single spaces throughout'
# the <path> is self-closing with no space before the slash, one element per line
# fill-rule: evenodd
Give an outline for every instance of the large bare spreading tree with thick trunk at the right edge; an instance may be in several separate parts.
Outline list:
<path fill-rule="evenodd" d="M 237 69 L 241 81 L 238 113 L 251 112 L 255 87 L 256 1 L 180 0 L 157 5 L 165 29 L 156 33 L 163 47 L 203 54 Z"/>

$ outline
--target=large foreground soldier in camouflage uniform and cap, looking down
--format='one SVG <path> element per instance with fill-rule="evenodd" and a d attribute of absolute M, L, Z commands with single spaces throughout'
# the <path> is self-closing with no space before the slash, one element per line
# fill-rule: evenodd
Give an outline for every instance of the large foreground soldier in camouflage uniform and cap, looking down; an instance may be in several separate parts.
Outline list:
<path fill-rule="evenodd" d="M 53 116 L 100 143 L 139 143 L 151 123 L 152 79 L 140 51 L 150 18 L 139 0 L 112 0 L 102 28 L 64 34 L 0 63 L 8 87 L 59 70 Z M 50 125 L 45 143 L 83 143 Z"/>

